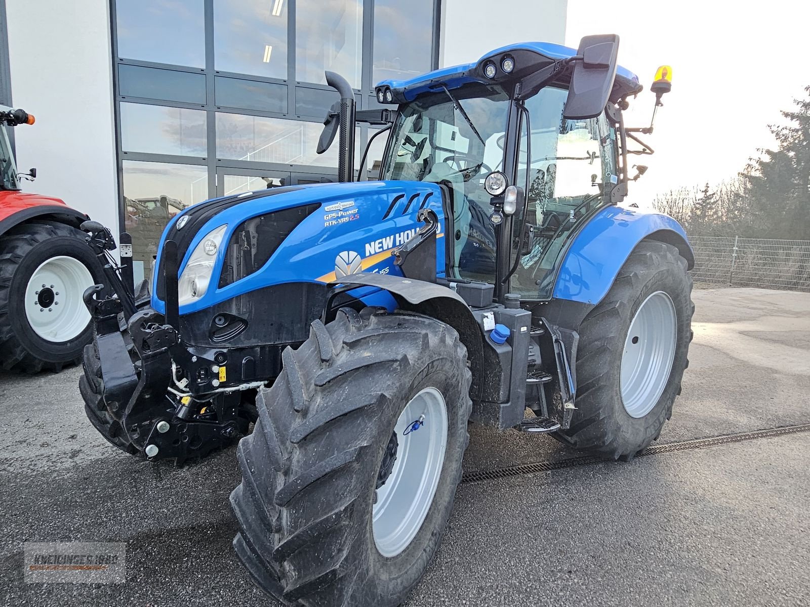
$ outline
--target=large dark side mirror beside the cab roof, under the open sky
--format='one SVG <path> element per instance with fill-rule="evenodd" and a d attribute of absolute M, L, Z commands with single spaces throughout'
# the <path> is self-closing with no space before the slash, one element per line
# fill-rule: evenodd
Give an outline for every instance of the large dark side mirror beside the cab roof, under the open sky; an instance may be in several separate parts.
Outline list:
<path fill-rule="evenodd" d="M 574 63 L 563 112 L 563 117 L 568 120 L 586 120 L 604 111 L 616 79 L 619 36 L 585 36 L 579 43 L 577 54 L 582 61 Z"/>

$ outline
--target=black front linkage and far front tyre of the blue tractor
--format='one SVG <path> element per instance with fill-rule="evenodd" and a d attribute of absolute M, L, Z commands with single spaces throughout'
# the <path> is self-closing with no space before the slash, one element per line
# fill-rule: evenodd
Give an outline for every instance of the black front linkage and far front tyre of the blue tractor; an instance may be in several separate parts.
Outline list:
<path fill-rule="evenodd" d="M 185 344 L 149 307 L 145 289 L 136 298 L 126 287 L 109 255 L 109 230 L 95 222 L 82 227 L 111 287 L 95 285 L 83 295 L 95 326 L 79 385 L 90 421 L 123 451 L 177 465 L 235 443 L 255 420 L 248 397 L 263 382 L 229 384 L 227 354 Z M 188 376 L 179 377 L 178 366 Z"/>

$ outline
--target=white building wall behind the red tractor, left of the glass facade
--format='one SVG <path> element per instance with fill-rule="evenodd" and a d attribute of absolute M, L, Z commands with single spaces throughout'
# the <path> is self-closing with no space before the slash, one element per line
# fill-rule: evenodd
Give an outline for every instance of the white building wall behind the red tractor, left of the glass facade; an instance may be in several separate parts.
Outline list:
<path fill-rule="evenodd" d="M 118 234 L 108 0 L 6 0 L 11 96 L 36 117 L 15 128 L 23 189 L 62 198 Z"/>

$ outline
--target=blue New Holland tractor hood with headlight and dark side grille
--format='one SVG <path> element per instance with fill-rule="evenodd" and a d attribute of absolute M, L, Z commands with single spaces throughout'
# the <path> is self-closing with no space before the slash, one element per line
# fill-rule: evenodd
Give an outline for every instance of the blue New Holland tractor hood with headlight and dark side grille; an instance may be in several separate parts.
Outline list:
<path fill-rule="evenodd" d="M 168 223 L 160 239 L 152 277 L 152 307 L 165 311 L 167 240 L 177 243 L 181 287 L 190 261 L 192 266 L 201 258 L 213 264 L 207 284 L 200 285 L 204 295 L 185 303 L 181 295 L 180 313 L 184 315 L 285 282 L 325 284 L 360 271 L 401 275 L 391 252 L 415 233 L 420 226 L 416 214 L 423 208 L 432 209 L 440 221 L 437 274 L 444 274 L 445 214 L 436 184 L 362 181 L 301 185 L 190 206 Z M 245 235 L 253 237 L 254 248 L 262 249 L 260 257 L 266 261 L 260 267 L 247 263 L 242 267 L 241 257 L 234 257 L 235 252 L 250 248 Z M 203 251 L 210 258 L 203 257 Z"/>

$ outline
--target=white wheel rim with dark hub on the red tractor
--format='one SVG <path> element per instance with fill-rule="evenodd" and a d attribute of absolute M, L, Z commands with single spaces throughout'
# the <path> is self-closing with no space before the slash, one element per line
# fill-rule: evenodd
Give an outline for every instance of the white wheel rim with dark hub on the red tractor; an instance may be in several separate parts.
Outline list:
<path fill-rule="evenodd" d="M 90 322 L 82 295 L 94 283 L 90 270 L 75 257 L 46 260 L 25 289 L 28 325 L 48 342 L 69 342 L 79 336 Z"/>

